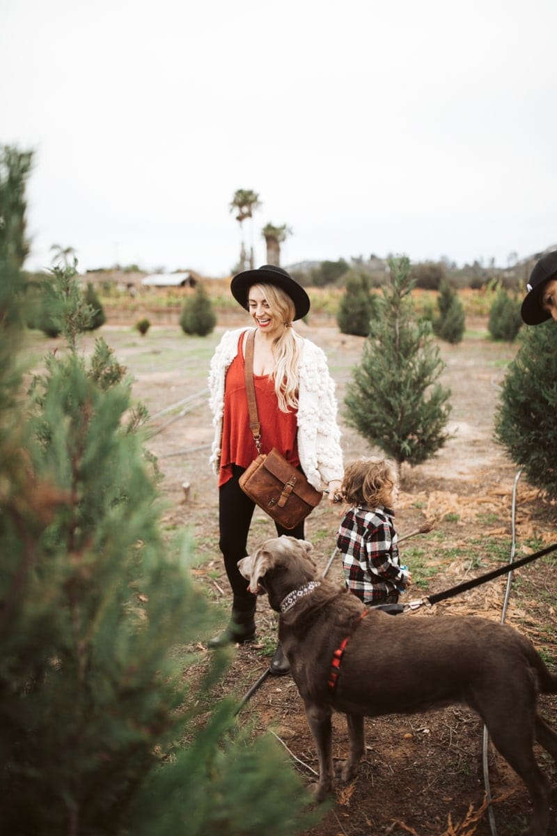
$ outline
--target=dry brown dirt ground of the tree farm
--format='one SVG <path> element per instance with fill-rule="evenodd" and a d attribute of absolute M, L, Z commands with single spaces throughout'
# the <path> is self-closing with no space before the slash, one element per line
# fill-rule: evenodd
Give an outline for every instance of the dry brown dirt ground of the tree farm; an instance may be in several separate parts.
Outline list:
<path fill-rule="evenodd" d="M 192 529 L 198 556 L 194 573 L 220 612 L 223 626 L 230 610 L 230 593 L 218 549 L 216 482 L 208 466 L 212 430 L 205 385 L 216 341 L 227 327 L 239 324 L 246 324 L 246 319 L 220 321 L 215 333 L 205 340 L 185 338 L 170 324 L 153 326 L 145 337 L 110 319 L 101 329 L 134 376 L 134 393 L 152 415 L 155 434 L 149 449 L 159 457 L 164 475 L 162 489 L 168 500 L 165 528 L 169 535 L 185 526 Z M 361 357 L 363 340 L 339 334 L 336 325 L 327 320 L 298 327 L 327 353 L 337 382 L 345 460 L 377 453 L 346 426 L 343 417 L 343 397 L 352 365 Z M 482 319 L 468 322 L 467 327 L 463 343 L 439 344 L 447 364 L 442 382 L 452 390 L 452 438 L 432 461 L 403 470 L 396 517 L 399 537 L 418 528 L 426 517 L 436 520 L 431 533 L 401 544 L 404 563 L 417 580 L 408 599 L 449 589 L 509 562 L 515 480 L 516 556 L 555 539 L 554 507 L 544 502 L 524 477 L 518 477 L 517 468 L 492 435 L 499 384 L 516 346 L 489 341 Z M 306 538 L 314 544 L 323 570 L 334 550 L 339 513 L 337 507 L 322 503 L 306 523 Z M 273 536 L 272 523 L 256 511 L 248 547 L 256 548 Z M 340 558 L 333 559 L 327 576 L 341 581 Z M 466 613 L 500 621 L 506 577 L 433 608 L 397 617 Z M 529 635 L 550 666 L 557 663 L 556 602 L 551 558 L 514 573 L 506 622 Z M 276 645 L 276 620 L 264 599 L 259 599 L 256 620 L 257 641 L 235 652 L 220 686 L 223 694 L 241 698 L 268 668 Z M 209 651 L 203 644 L 192 650 L 198 661 L 188 675 L 195 677 L 205 669 Z M 544 716 L 557 726 L 557 700 L 542 698 L 540 704 Z M 315 748 L 290 675 L 267 675 L 246 701 L 239 722 L 253 723 L 256 733 L 271 730 L 304 779 L 310 782 L 314 778 Z M 482 726 L 473 712 L 452 706 L 423 715 L 374 718 L 366 721 L 366 732 L 367 756 L 357 779 L 337 788 L 334 805 L 306 836 L 490 833 L 484 804 Z M 345 721 L 343 716 L 335 716 L 333 754 L 342 758 L 346 752 Z M 543 750 L 536 749 L 536 753 L 552 781 L 555 806 L 557 768 Z M 491 746 L 488 762 L 494 832 L 499 836 L 520 833 L 529 816 L 524 785 Z M 551 832 L 557 833 L 555 821 L 552 827 Z"/>

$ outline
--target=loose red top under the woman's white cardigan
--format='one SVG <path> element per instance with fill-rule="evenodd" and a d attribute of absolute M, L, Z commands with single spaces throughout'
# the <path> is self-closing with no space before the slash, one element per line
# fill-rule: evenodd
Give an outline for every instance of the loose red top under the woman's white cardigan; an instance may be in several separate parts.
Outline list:
<path fill-rule="evenodd" d="M 232 465 L 249 467 L 256 458 L 256 442 L 250 430 L 247 408 L 246 371 L 242 344 L 238 342 L 238 354 L 232 360 L 225 378 L 225 413 L 222 423 L 219 487 L 232 477 Z M 281 412 L 275 392 L 275 382 L 268 375 L 253 375 L 256 387 L 257 415 L 261 425 L 261 452 L 270 453 L 273 447 L 282 453 L 286 461 L 297 467 L 298 458 L 297 410 Z"/>

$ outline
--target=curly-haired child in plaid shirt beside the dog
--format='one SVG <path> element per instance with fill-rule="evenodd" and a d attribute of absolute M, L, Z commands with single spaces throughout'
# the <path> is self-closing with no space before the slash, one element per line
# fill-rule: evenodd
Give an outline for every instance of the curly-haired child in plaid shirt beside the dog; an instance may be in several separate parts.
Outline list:
<path fill-rule="evenodd" d="M 352 506 L 337 534 L 347 586 L 364 604 L 396 604 L 411 575 L 400 565 L 392 522 L 398 495 L 394 461 L 352 461 L 344 472 L 341 493 Z"/>

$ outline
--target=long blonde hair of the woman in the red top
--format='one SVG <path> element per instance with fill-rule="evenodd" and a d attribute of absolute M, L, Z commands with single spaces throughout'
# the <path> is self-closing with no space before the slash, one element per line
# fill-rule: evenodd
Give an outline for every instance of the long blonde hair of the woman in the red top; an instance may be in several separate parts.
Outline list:
<path fill-rule="evenodd" d="M 292 329 L 296 308 L 290 296 L 274 284 L 252 284 L 264 294 L 271 313 L 281 319 L 285 329 L 273 342 L 275 369 L 270 375 L 275 381 L 275 392 L 281 412 L 298 408 L 298 363 L 300 361 L 300 337 Z"/>

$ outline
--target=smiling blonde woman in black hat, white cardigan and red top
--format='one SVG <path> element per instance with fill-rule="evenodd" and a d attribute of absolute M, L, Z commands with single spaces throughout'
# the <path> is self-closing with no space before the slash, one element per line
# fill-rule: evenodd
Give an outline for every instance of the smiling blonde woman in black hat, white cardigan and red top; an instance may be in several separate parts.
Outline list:
<path fill-rule="evenodd" d="M 341 486 L 342 451 L 337 426 L 335 385 L 322 349 L 292 328 L 310 309 L 306 291 L 274 265 L 239 273 L 230 290 L 251 314 L 255 325 L 253 375 L 261 423 L 261 451 L 276 447 L 300 467 L 318 491 L 328 490 L 329 502 Z M 219 476 L 220 550 L 232 588 L 232 615 L 225 632 L 211 647 L 243 643 L 256 632 L 256 596 L 248 592 L 237 563 L 246 557 L 254 502 L 241 490 L 241 474 L 257 456 L 250 430 L 244 377 L 246 333 L 227 331 L 210 364 L 210 407 L 215 441 L 210 462 Z M 304 538 L 304 523 L 276 533 Z M 281 645 L 271 660 L 271 673 L 289 670 Z"/>

